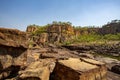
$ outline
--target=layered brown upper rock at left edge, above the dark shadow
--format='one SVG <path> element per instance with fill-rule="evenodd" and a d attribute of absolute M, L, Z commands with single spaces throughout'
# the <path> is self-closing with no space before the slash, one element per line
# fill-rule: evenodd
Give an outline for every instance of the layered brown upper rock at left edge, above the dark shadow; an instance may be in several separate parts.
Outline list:
<path fill-rule="evenodd" d="M 0 45 L 27 47 L 26 33 L 17 29 L 0 28 Z"/>

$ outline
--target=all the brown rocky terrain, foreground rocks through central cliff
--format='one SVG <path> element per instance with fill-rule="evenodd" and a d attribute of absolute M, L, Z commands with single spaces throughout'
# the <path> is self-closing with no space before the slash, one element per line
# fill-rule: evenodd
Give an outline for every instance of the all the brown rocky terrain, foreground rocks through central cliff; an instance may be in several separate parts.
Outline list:
<path fill-rule="evenodd" d="M 0 28 L 0 80 L 119 80 L 120 43 L 56 45 L 75 35 L 71 26 L 52 25 L 41 34 Z M 34 34 L 31 34 L 33 32 Z"/>

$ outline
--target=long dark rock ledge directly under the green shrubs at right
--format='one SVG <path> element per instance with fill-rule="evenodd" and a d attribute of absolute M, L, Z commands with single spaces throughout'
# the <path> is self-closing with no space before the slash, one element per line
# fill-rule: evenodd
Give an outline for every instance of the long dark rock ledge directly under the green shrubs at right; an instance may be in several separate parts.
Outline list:
<path fill-rule="evenodd" d="M 120 56 L 120 43 L 114 44 L 91 44 L 91 45 L 65 45 L 63 46 L 73 51 L 77 51 L 79 53 L 86 53 L 88 51 L 92 51 L 93 53 L 103 54 L 103 55 L 111 55 L 114 57 Z"/>

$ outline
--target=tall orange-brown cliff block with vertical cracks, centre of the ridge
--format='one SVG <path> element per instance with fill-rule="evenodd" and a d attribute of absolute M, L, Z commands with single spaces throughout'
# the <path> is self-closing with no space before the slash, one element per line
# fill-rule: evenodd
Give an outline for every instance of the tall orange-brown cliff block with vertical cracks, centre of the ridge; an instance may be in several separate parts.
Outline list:
<path fill-rule="evenodd" d="M 64 42 L 69 40 L 74 35 L 74 29 L 71 25 L 57 25 L 53 24 L 48 27 L 49 42 Z"/>

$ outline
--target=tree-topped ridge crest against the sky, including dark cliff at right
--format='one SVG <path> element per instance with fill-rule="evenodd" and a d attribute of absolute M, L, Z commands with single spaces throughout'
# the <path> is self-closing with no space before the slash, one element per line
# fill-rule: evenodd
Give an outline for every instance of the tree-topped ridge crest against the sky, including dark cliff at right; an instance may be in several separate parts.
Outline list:
<path fill-rule="evenodd" d="M 97 34 L 117 34 L 120 33 L 120 20 L 112 20 L 107 24 L 103 25 L 102 27 L 99 26 L 72 26 L 71 22 L 57 22 L 53 21 L 51 24 L 47 24 L 44 26 L 39 25 L 29 25 L 28 27 L 38 27 L 40 32 L 47 31 L 47 27 L 49 26 L 71 26 L 74 28 L 75 31 L 79 32 L 80 34 L 85 33 L 97 33 Z"/>

